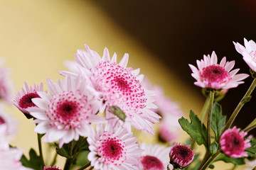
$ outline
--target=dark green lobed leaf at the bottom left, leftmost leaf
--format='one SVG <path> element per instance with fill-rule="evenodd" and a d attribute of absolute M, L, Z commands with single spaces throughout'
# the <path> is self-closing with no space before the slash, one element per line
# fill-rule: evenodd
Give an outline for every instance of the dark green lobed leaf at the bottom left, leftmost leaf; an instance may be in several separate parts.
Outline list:
<path fill-rule="evenodd" d="M 22 155 L 21 157 L 21 163 L 23 166 L 26 166 L 28 168 L 34 169 L 34 170 L 42 170 L 43 165 L 41 165 L 41 159 L 36 154 L 36 151 L 31 148 L 29 151 L 29 159 L 25 157 L 25 155 Z"/>

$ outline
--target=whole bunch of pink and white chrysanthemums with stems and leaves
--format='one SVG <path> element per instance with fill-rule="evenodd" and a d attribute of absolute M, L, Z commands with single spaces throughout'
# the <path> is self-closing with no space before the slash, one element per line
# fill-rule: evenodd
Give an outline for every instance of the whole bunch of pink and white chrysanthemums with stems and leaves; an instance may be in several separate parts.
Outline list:
<path fill-rule="evenodd" d="M 235 47 L 255 77 L 255 42 L 245 40 L 245 47 L 238 43 Z M 0 170 L 58 170 L 58 156 L 65 158 L 64 170 L 196 170 L 213 168 L 214 162 L 218 161 L 237 166 L 245 164 L 245 157 L 246 161 L 256 158 L 256 139 L 247 137 L 247 132 L 256 127 L 256 119 L 244 130 L 232 128 L 236 115 L 250 101 L 256 80 L 227 122 L 217 103 L 228 89 L 242 84 L 248 77 L 247 74 L 237 74 L 239 69 L 231 71 L 234 61 L 226 62 L 223 57 L 218 64 L 213 52 L 197 61 L 198 68 L 189 64 L 195 84 L 203 88 L 207 97 L 200 118 L 191 111 L 189 123 L 186 118 L 181 118 L 181 108 L 164 96 L 161 87 L 145 81 L 139 69 L 127 67 L 127 54 L 117 64 L 117 55 L 114 53 L 110 58 L 107 48 L 103 57 L 87 45 L 85 48 L 86 51 L 78 50 L 75 54 L 75 62 L 66 62 L 69 71 L 60 72 L 63 79 L 58 83 L 47 80 L 49 92 L 43 89 L 43 84 L 29 86 L 24 83 L 24 89 L 16 94 L 14 105 L 36 124 L 38 154 L 31 149 L 26 157 L 9 145 L 8 136 L 14 123 L 2 111 Z M 2 86 L 8 89 L 8 86 L 4 83 L 0 83 L 0 97 L 5 99 L 8 95 L 1 93 L 1 89 Z M 206 125 L 203 124 L 205 118 Z M 159 123 L 156 134 L 161 144 L 138 141 L 134 134 L 138 135 L 139 131 L 155 135 L 152 126 L 155 123 Z M 181 128 L 191 137 L 183 144 L 177 141 Z M 41 140 L 55 147 L 55 157 L 50 164 L 43 159 Z M 202 160 L 194 151 L 196 144 L 206 147 Z"/>

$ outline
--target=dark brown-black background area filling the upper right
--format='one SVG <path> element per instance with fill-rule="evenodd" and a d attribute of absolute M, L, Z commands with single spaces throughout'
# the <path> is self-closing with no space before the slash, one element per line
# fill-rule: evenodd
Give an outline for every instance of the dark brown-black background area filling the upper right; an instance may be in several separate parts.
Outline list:
<path fill-rule="evenodd" d="M 195 65 L 196 60 L 213 50 L 219 61 L 226 56 L 228 61 L 235 60 L 239 73 L 249 74 L 247 64 L 236 52 L 233 41 L 242 45 L 243 38 L 256 41 L 256 2 L 253 0 L 95 2 L 198 93 L 201 93 L 201 88 L 193 85 L 195 80 L 188 64 Z M 228 91 L 220 102 L 225 115 L 230 116 L 251 82 L 249 77 L 245 84 Z M 245 128 L 255 118 L 255 94 L 256 91 L 235 120 L 235 125 L 240 128 Z M 256 130 L 250 134 L 256 135 Z"/>

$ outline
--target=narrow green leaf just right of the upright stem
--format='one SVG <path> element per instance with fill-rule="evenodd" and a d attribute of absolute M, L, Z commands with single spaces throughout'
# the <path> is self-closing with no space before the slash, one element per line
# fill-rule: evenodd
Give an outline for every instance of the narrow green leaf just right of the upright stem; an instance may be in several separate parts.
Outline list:
<path fill-rule="evenodd" d="M 222 115 L 221 106 L 218 103 L 213 104 L 213 113 L 210 120 L 210 127 L 215 133 L 215 141 L 220 139 L 221 130 L 225 127 L 226 116 Z"/>

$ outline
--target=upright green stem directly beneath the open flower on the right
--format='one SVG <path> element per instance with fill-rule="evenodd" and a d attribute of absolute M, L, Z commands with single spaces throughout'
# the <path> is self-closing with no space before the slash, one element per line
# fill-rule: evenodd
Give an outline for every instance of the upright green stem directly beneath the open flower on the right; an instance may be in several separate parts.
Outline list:
<path fill-rule="evenodd" d="M 213 112 L 213 101 L 214 101 L 214 91 L 210 91 L 209 97 L 209 108 L 208 108 L 208 118 L 207 118 L 207 147 L 210 148 L 210 120 Z"/>

